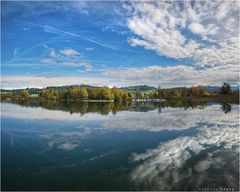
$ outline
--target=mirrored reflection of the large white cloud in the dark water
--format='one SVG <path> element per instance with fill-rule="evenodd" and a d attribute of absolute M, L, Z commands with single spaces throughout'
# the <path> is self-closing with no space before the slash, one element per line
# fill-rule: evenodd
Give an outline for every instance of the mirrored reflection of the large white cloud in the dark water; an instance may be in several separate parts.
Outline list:
<path fill-rule="evenodd" d="M 237 190 L 239 130 L 205 126 L 191 137 L 133 154 L 132 160 L 141 163 L 130 178 L 143 190 L 198 190 L 206 186 Z"/>

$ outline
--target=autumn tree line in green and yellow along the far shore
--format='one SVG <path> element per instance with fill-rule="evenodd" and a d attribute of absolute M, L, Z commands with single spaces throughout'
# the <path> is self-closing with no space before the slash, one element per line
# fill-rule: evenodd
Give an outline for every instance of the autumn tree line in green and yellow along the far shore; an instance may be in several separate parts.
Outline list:
<path fill-rule="evenodd" d="M 23 89 L 21 91 L 13 91 L 7 94 L 1 93 L 1 98 L 30 98 L 33 95 L 37 98 L 47 100 L 112 100 L 112 101 L 130 101 L 132 99 L 168 99 L 168 98 L 191 98 L 191 97 L 205 97 L 214 95 L 209 93 L 206 87 L 192 86 L 153 89 L 152 91 L 131 91 L 126 89 L 119 89 L 117 87 L 84 87 L 84 86 L 70 86 L 69 88 L 56 89 L 46 88 L 38 90 L 37 94 L 30 94 L 30 89 Z M 222 95 L 232 94 L 229 83 L 224 82 L 219 91 Z M 218 93 L 218 94 L 219 94 Z M 216 94 L 215 94 L 216 95 Z"/>

